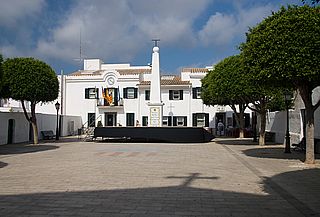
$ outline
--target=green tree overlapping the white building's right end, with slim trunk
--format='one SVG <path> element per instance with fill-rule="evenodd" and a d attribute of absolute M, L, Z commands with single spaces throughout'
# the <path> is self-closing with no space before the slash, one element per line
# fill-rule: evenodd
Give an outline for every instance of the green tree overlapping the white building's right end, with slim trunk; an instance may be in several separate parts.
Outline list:
<path fill-rule="evenodd" d="M 229 105 L 235 113 L 240 138 L 244 137 L 244 111 L 248 106 L 247 83 L 240 56 L 227 57 L 202 79 L 201 98 L 206 105 Z"/>

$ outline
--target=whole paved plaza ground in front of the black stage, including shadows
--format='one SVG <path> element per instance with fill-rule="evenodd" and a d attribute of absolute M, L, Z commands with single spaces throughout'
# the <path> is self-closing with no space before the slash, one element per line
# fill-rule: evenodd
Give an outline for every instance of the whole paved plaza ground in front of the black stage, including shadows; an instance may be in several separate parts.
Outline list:
<path fill-rule="evenodd" d="M 320 216 L 302 160 L 241 139 L 0 146 L 0 216 Z"/>

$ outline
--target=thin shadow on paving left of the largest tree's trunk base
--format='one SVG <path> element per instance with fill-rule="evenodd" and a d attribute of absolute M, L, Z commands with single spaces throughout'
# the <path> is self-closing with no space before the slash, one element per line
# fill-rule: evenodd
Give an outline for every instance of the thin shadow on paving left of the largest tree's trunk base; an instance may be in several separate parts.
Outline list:
<path fill-rule="evenodd" d="M 305 161 L 303 152 L 291 150 L 291 153 L 284 153 L 284 147 L 259 147 L 242 151 L 245 155 L 257 158 L 273 158 L 273 159 L 296 159 Z M 320 154 L 315 155 L 316 159 L 320 159 Z"/>

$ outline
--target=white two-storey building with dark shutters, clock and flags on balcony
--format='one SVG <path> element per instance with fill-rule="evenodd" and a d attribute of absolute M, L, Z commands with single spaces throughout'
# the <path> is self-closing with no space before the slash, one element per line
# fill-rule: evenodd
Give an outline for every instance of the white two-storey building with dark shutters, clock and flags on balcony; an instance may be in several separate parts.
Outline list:
<path fill-rule="evenodd" d="M 233 125 L 230 108 L 202 103 L 201 79 L 208 71 L 184 68 L 179 76 L 161 76 L 162 126 L 216 128 L 218 119 Z M 63 76 L 64 114 L 81 116 L 86 126 L 148 126 L 150 83 L 150 66 L 84 60 L 83 70 Z"/>

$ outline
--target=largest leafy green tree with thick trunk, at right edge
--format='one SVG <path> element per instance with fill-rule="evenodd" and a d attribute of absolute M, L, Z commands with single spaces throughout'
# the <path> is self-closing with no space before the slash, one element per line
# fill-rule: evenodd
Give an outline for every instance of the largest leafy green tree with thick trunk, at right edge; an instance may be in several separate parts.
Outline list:
<path fill-rule="evenodd" d="M 261 85 L 293 87 L 306 109 L 306 163 L 314 163 L 312 91 L 320 85 L 320 8 L 288 6 L 249 29 L 241 45 L 245 67 Z"/>

